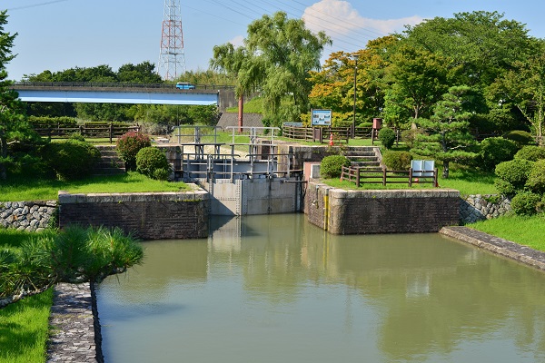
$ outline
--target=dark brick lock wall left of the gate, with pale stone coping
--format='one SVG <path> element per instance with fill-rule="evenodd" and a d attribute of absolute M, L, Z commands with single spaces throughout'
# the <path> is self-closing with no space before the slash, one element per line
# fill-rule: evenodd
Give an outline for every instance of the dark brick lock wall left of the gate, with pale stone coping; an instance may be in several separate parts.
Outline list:
<path fill-rule="evenodd" d="M 69 194 L 59 191 L 59 225 L 119 227 L 138 238 L 193 239 L 208 236 L 205 191 Z"/>

